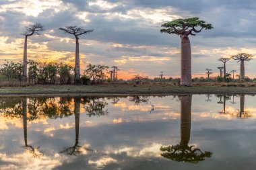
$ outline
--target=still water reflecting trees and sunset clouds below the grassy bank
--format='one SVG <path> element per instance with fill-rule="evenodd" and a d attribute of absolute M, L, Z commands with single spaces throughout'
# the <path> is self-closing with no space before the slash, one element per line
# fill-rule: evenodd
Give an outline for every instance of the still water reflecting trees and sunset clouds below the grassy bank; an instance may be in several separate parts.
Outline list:
<path fill-rule="evenodd" d="M 0 97 L 0 169 L 255 169 L 256 97 Z"/>

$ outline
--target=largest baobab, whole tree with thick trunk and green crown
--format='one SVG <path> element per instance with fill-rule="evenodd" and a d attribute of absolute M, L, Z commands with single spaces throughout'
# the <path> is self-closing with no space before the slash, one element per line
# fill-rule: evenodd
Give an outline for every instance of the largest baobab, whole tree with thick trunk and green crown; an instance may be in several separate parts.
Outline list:
<path fill-rule="evenodd" d="M 198 17 L 191 17 L 166 22 L 162 24 L 162 27 L 164 28 L 160 32 L 177 34 L 181 37 L 181 85 L 191 86 L 191 45 L 189 35 L 195 36 L 195 33 L 199 33 L 203 29 L 211 30 L 213 26 L 212 24 L 205 24 Z"/>

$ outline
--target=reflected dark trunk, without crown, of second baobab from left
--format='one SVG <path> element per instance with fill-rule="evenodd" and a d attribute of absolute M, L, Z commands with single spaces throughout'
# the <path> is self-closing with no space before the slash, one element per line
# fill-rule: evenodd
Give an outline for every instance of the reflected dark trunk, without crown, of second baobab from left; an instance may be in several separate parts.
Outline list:
<path fill-rule="evenodd" d="M 74 114 L 75 114 L 75 146 L 78 145 L 79 139 L 79 118 L 80 118 L 80 101 L 81 98 L 75 97 L 74 98 Z"/>

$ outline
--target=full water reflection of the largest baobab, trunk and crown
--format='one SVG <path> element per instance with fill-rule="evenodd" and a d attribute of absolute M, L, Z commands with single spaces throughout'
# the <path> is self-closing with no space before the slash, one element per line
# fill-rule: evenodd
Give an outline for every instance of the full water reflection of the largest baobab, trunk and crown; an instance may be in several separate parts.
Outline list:
<path fill-rule="evenodd" d="M 177 162 L 199 163 L 206 157 L 212 157 L 211 152 L 202 152 L 195 146 L 189 146 L 191 132 L 191 100 L 192 95 L 180 96 L 181 100 L 181 142 L 177 145 L 161 146 L 162 157 Z"/>

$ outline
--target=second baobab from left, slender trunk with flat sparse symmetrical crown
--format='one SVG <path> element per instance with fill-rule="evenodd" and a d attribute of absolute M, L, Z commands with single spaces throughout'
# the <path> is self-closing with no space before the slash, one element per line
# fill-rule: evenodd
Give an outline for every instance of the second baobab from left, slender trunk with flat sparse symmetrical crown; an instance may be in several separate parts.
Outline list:
<path fill-rule="evenodd" d="M 79 36 L 82 36 L 84 34 L 88 34 L 90 32 L 93 32 L 94 30 L 86 30 L 82 27 L 77 26 L 67 26 L 63 28 L 59 28 L 64 34 L 72 34 L 75 36 L 75 79 L 74 83 L 80 84 L 80 58 L 79 58 Z"/>

